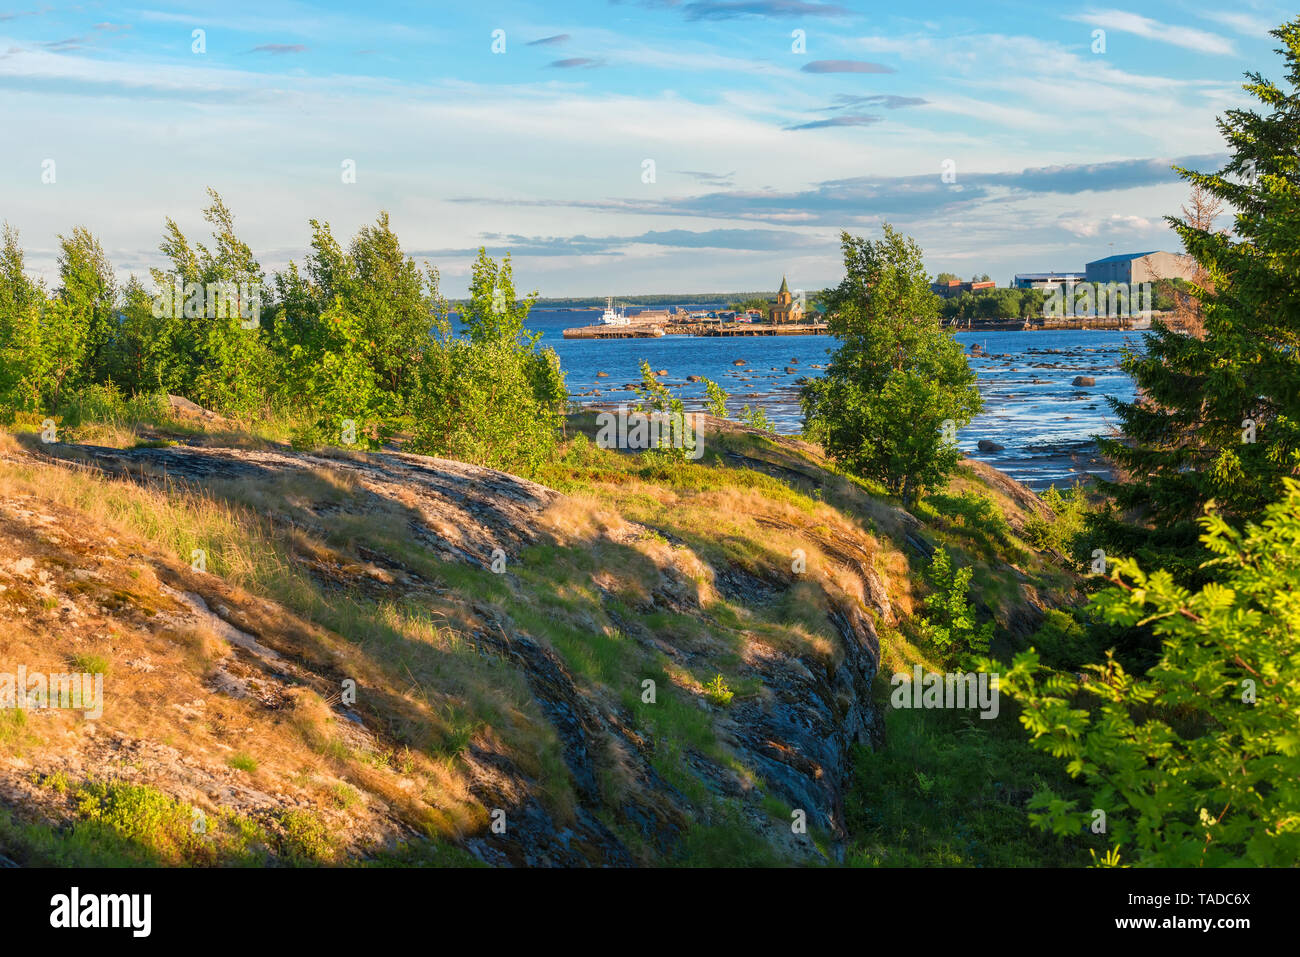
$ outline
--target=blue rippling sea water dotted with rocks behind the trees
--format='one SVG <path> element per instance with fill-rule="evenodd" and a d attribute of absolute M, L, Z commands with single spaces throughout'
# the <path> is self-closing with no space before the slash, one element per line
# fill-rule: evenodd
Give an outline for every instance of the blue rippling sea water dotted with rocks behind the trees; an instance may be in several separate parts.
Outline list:
<path fill-rule="evenodd" d="M 728 393 L 732 413 L 745 403 L 762 404 L 779 432 L 797 433 L 801 416 L 797 380 L 822 374 L 836 341 L 829 335 L 705 338 L 664 335 L 660 339 L 566 339 L 568 326 L 585 325 L 599 312 L 534 309 L 529 328 L 560 356 L 568 389 L 578 402 L 618 403 L 633 397 L 628 384 L 640 381 L 641 360 L 667 371 L 660 377 L 688 410 L 703 408 L 703 386 L 686 376 L 703 376 Z M 1119 369 L 1123 348 L 1141 348 L 1136 332 L 975 332 L 958 333 L 967 350 L 984 346 L 987 355 L 970 356 L 979 376 L 984 412 L 958 436 L 971 458 L 988 462 L 1043 489 L 1076 481 L 1102 471 L 1092 437 L 1105 434 L 1114 415 L 1106 395 L 1134 398 L 1134 384 Z M 746 365 L 733 365 L 744 359 Z M 607 377 L 597 376 L 607 372 Z M 1075 376 L 1091 376 L 1095 386 L 1074 387 Z M 578 393 L 599 393 L 578 395 Z M 979 439 L 1005 446 L 980 452 Z"/>

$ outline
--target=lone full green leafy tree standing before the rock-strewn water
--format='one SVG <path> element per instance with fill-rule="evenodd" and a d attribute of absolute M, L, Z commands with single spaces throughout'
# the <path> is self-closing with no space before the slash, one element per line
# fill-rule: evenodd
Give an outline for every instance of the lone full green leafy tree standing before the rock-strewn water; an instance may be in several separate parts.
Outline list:
<path fill-rule="evenodd" d="M 840 347 L 802 387 L 805 433 L 911 506 L 957 464 L 944 432 L 979 412 L 975 373 L 940 322 L 913 239 L 885 224 L 876 242 L 844 233 L 841 244 L 845 277 L 824 295 Z"/>

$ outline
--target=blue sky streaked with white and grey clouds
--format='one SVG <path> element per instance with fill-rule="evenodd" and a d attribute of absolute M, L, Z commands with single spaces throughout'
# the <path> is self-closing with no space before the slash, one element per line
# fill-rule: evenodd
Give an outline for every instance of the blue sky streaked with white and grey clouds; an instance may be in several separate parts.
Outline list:
<path fill-rule="evenodd" d="M 1294 16 L 1113 3 L 0 0 L 0 220 L 47 280 L 78 225 L 147 276 L 207 187 L 268 270 L 386 209 L 452 296 L 480 246 L 542 296 L 815 290 L 883 222 L 1082 270 L 1180 248 L 1170 166 L 1223 163 Z"/>

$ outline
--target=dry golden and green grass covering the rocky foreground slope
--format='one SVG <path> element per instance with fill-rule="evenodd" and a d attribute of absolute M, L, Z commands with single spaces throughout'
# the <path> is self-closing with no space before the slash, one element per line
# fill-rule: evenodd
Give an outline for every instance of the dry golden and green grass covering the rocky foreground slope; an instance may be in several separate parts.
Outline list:
<path fill-rule="evenodd" d="M 702 811 L 671 849 L 653 846 L 614 813 L 634 787 L 620 778 L 619 754 L 599 755 L 606 797 L 595 813 L 638 859 L 809 859 L 774 839 L 790 809 L 736 761 L 728 707 L 710 681 L 720 676 L 737 700 L 762 694 L 745 667 L 757 649 L 833 661 L 827 611 L 844 596 L 871 609 L 884 674 L 916 661 L 937 667 L 913 624 L 930 544 L 975 564 L 974 598 L 1001 625 L 994 651 L 1024 641 L 1027 609 L 1072 598 L 1071 577 L 1017 536 L 1032 502 L 989 469 L 963 468 L 918 510 L 920 523 L 802 442 L 728 428 L 708 436 L 699 463 L 673 463 L 599 450 L 586 441 L 593 425 L 592 416 L 571 423 L 563 458 L 541 476 L 566 497 L 503 576 L 419 547 L 399 503 L 386 515 L 373 503 L 361 511 L 355 485 L 329 468 L 307 482 L 142 488 L 44 464 L 25 452 L 30 442 L 9 441 L 0 614 L 16 628 L 0 640 L 0 659 L 53 671 L 95 655 L 127 703 L 94 731 L 69 714 L 3 719 L 0 793 L 29 809 L 0 815 L 4 853 L 32 863 L 464 859 L 459 844 L 484 833 L 490 814 L 476 757 L 493 753 L 523 774 L 498 791 L 526 787 L 558 819 L 573 819 L 580 801 L 562 741 L 519 674 L 465 640 L 504 619 L 552 649 L 585 694 L 629 715 L 653 745 L 654 771 Z M 194 423 L 87 423 L 61 438 L 263 443 Z M 963 494 L 972 492 L 996 507 Z M 14 571 L 32 557 L 25 536 L 40 542 L 47 580 Z M 188 570 L 195 547 L 211 575 Z M 796 550 L 809 575 L 792 581 Z M 389 564 L 376 568 L 373 554 Z M 394 588 L 384 580 L 393 563 L 424 584 Z M 90 567 L 110 571 L 77 573 Z M 881 592 L 870 603 L 863 576 Z M 664 601 L 664 581 L 692 583 L 693 601 Z M 753 583 L 783 584 L 755 592 Z M 181 616 L 173 593 L 188 589 L 217 594 L 302 668 L 292 688 L 266 690 L 278 696 L 274 709 L 205 690 L 235 661 L 220 635 L 159 627 Z M 365 702 L 372 735 L 354 733 L 329 706 L 339 675 L 385 689 Z M 654 707 L 640 698 L 646 675 L 663 689 Z M 850 861 L 1082 859 L 1079 848 L 1030 835 L 1023 804 L 1034 776 L 1053 768 L 1004 715 L 996 731 L 945 713 L 887 715 L 887 746 L 858 755 Z M 118 739 L 130 748 L 114 750 Z M 748 797 L 722 797 L 694 755 L 727 768 Z M 181 774 L 185 762 L 199 771 Z M 196 809 L 213 835 L 204 840 L 186 826 Z M 812 839 L 826 850 L 826 835 Z"/>

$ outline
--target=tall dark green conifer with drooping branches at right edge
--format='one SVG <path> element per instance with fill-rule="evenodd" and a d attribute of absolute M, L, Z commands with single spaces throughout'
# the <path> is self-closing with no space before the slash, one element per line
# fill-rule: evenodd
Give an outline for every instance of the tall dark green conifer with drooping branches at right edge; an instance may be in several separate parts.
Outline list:
<path fill-rule="evenodd" d="M 1187 584 L 1205 558 L 1196 519 L 1209 501 L 1240 525 L 1300 475 L 1300 17 L 1273 36 L 1286 83 L 1247 74 L 1264 109 L 1219 120 L 1227 164 L 1178 168 L 1235 211 L 1232 234 L 1167 217 L 1209 277 L 1191 289 L 1205 334 L 1153 322 L 1124 361 L 1139 398 L 1112 400 L 1123 434 L 1101 441 L 1127 481 L 1105 484 L 1118 508 L 1095 520 L 1097 545 Z"/>

